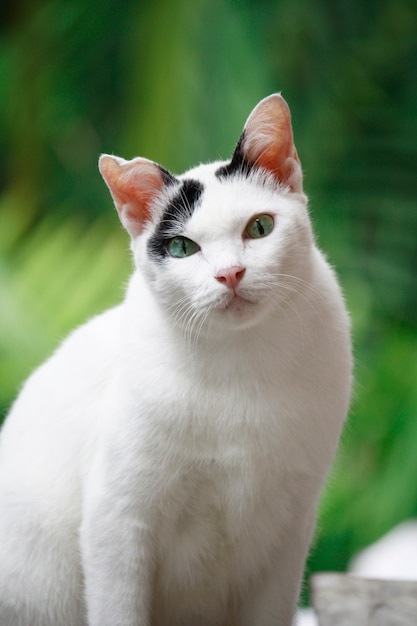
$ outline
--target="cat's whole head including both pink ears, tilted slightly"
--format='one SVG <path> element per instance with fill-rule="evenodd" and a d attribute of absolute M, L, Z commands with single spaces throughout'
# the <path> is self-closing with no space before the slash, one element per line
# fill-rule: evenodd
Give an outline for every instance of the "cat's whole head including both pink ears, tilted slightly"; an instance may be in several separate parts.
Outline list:
<path fill-rule="evenodd" d="M 103 155 L 100 171 L 138 270 L 184 328 L 251 326 L 308 282 L 311 227 L 280 95 L 255 107 L 228 162 L 173 176 Z"/>

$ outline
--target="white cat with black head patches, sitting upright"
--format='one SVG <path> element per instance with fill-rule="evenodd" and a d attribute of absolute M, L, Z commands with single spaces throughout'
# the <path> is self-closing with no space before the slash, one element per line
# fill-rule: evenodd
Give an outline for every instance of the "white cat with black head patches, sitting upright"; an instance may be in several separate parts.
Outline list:
<path fill-rule="evenodd" d="M 99 168 L 135 270 L 6 418 L 0 624 L 289 626 L 352 356 L 288 105 L 229 161 Z"/>

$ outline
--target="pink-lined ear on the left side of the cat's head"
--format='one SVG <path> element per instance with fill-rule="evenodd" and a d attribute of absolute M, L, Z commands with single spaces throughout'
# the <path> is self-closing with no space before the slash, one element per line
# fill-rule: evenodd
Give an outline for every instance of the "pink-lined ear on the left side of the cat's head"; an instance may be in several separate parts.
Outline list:
<path fill-rule="evenodd" d="M 152 201 L 166 184 L 168 172 L 148 159 L 126 161 L 109 154 L 100 157 L 99 170 L 123 226 L 132 238 L 140 235 L 144 224 L 152 219 Z"/>

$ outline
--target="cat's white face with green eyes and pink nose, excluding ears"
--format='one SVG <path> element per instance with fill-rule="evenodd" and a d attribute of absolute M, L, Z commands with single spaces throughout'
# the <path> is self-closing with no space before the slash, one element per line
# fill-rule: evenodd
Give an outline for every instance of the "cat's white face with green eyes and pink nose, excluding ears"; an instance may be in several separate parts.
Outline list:
<path fill-rule="evenodd" d="M 221 167 L 200 166 L 168 187 L 133 241 L 140 271 L 187 332 L 256 324 L 308 279 L 303 196 L 259 171 L 219 176 Z"/>

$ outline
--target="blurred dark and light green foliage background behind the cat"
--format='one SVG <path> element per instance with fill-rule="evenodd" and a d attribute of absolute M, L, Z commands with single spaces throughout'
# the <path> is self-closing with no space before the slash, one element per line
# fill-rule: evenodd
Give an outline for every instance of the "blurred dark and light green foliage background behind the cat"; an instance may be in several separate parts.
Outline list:
<path fill-rule="evenodd" d="M 8 0 L 0 14 L 0 411 L 118 302 L 128 238 L 101 152 L 173 172 L 290 104 L 321 247 L 352 313 L 356 391 L 308 571 L 417 514 L 415 0 Z"/>

